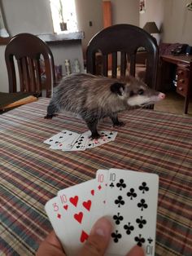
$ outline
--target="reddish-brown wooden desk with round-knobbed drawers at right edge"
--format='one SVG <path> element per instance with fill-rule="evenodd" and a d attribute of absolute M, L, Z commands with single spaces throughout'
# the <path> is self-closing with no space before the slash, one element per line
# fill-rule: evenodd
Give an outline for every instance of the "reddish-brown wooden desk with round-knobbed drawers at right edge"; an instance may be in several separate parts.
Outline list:
<path fill-rule="evenodd" d="M 161 55 L 161 86 L 164 85 L 164 64 L 177 66 L 177 93 L 185 97 L 184 113 L 187 114 L 192 95 L 192 55 Z"/>

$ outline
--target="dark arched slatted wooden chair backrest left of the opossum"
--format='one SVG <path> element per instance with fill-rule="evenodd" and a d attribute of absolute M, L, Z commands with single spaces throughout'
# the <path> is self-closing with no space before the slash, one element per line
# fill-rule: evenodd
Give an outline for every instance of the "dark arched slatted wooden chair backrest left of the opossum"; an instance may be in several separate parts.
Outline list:
<path fill-rule="evenodd" d="M 41 95 L 42 89 L 45 89 L 46 97 L 51 96 L 55 84 L 55 65 L 52 52 L 46 42 L 30 33 L 17 34 L 7 44 L 5 60 L 9 92 L 17 91 L 15 73 L 15 62 L 17 62 L 20 91 Z"/>

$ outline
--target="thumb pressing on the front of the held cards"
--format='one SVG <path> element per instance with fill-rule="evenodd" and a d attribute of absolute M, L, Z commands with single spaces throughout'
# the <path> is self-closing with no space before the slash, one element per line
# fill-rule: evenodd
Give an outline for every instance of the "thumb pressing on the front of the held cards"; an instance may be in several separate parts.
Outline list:
<path fill-rule="evenodd" d="M 102 256 L 110 241 L 111 229 L 111 223 L 107 218 L 99 218 L 92 227 L 79 256 Z"/>

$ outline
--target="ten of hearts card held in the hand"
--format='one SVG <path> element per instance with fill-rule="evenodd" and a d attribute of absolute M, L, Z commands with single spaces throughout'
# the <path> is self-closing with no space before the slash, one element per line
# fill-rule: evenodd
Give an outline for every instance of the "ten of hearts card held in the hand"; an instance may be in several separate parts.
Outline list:
<path fill-rule="evenodd" d="M 77 255 L 89 236 L 90 210 L 94 200 L 95 179 L 58 192 L 63 207 L 63 227 L 68 230 L 68 255 Z M 65 243 L 66 244 L 66 243 Z"/>

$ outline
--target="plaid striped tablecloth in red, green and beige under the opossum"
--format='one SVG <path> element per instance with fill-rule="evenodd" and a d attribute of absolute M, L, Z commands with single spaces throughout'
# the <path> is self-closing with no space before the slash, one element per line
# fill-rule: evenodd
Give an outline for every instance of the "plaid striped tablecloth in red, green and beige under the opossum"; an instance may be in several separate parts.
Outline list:
<path fill-rule="evenodd" d="M 93 179 L 98 169 L 159 174 L 155 255 L 192 254 L 192 118 L 147 109 L 121 113 L 116 140 L 85 152 L 42 143 L 85 122 L 69 113 L 46 120 L 49 99 L 0 116 L 1 255 L 34 255 L 51 226 L 44 205 L 62 188 Z M 111 130 L 104 119 L 98 130 Z"/>

